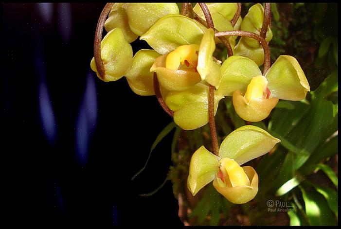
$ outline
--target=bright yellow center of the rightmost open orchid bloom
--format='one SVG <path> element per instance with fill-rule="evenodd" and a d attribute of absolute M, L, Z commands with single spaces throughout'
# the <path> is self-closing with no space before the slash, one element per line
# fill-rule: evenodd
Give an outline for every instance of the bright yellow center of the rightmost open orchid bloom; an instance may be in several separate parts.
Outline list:
<path fill-rule="evenodd" d="M 253 77 L 244 95 L 246 103 L 249 104 L 252 99 L 263 98 L 263 93 L 268 93 L 267 86 L 268 80 L 264 76 L 258 75 Z"/>

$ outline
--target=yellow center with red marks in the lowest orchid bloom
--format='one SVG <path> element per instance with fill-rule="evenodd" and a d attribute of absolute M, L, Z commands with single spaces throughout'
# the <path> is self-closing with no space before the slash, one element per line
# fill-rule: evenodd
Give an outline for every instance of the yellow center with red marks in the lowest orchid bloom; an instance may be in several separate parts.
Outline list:
<path fill-rule="evenodd" d="M 229 179 L 233 187 L 250 185 L 249 177 L 246 175 L 244 169 L 238 165 L 233 159 L 223 158 L 219 161 L 220 168 L 218 172 L 219 185 L 226 186 L 225 178 L 229 175 Z M 220 182 L 223 181 L 223 182 Z"/>

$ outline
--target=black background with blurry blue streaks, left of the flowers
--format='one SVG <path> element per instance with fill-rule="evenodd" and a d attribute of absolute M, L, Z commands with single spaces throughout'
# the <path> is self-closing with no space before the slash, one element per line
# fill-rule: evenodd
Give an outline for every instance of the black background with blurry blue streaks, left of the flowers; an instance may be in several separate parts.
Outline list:
<path fill-rule="evenodd" d="M 1 155 L 11 225 L 182 225 L 170 181 L 138 195 L 165 179 L 171 135 L 131 181 L 172 119 L 125 78 L 105 83 L 90 70 L 104 5 L 2 4 Z"/>

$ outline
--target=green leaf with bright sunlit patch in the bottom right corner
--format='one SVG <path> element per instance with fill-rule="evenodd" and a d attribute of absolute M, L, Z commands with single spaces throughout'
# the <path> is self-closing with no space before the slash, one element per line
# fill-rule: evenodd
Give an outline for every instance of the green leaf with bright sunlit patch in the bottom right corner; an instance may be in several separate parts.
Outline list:
<path fill-rule="evenodd" d="M 305 212 L 310 225 L 330 226 L 336 225 L 333 213 L 330 211 L 324 196 L 314 190 L 305 191 L 301 187 L 303 200 L 305 202 Z"/>

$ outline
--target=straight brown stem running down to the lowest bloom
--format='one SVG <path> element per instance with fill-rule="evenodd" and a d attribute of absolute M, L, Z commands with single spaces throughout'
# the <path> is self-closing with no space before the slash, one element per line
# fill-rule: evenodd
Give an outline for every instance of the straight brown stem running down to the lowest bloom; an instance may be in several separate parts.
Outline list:
<path fill-rule="evenodd" d="M 215 129 L 215 87 L 210 85 L 210 93 L 208 96 L 208 118 L 210 123 L 211 140 L 213 152 L 218 156 L 219 146 L 218 137 Z"/>

